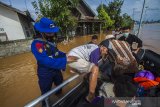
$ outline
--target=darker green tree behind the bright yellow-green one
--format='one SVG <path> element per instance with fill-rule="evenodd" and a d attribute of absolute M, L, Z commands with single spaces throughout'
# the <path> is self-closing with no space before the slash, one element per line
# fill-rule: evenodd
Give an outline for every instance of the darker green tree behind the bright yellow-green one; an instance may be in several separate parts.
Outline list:
<path fill-rule="evenodd" d="M 101 4 L 98 6 L 98 14 L 100 14 L 101 7 L 103 7 L 112 22 L 114 22 L 111 27 L 108 26 L 107 28 L 118 29 L 122 27 L 131 28 L 133 26 L 133 20 L 128 14 L 125 13 L 121 16 L 121 7 L 123 2 L 124 0 L 113 0 L 109 2 L 108 5 Z"/>

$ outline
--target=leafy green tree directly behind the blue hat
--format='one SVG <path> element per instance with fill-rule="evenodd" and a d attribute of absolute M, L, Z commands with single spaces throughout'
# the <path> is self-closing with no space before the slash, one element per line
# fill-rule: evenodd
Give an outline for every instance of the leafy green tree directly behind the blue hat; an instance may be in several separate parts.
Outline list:
<path fill-rule="evenodd" d="M 38 3 L 32 2 L 36 14 L 55 20 L 65 36 L 70 29 L 74 29 L 77 25 L 77 19 L 70 11 L 77 4 L 78 0 L 38 0 Z"/>

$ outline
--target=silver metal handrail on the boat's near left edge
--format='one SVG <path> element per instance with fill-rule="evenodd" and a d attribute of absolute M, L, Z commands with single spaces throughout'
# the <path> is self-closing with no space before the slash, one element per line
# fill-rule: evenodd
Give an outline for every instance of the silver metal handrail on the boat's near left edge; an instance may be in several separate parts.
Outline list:
<path fill-rule="evenodd" d="M 75 80 L 76 78 L 79 77 L 79 74 L 74 75 L 73 77 L 67 79 L 66 81 L 64 81 L 62 84 L 60 84 L 59 86 L 57 86 L 56 88 L 48 91 L 47 93 L 43 94 L 42 96 L 36 98 L 35 100 L 31 101 L 30 103 L 26 104 L 24 107 L 34 107 L 36 104 L 38 104 L 39 102 L 45 100 L 47 102 L 47 98 L 57 92 L 59 89 L 61 89 L 62 87 L 64 87 L 65 85 L 67 85 L 68 83 L 70 83 L 71 81 Z"/>

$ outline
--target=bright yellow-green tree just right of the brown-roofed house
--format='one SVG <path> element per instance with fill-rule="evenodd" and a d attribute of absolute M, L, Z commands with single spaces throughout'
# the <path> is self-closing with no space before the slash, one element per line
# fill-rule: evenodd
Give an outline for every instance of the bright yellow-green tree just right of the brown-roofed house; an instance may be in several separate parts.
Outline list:
<path fill-rule="evenodd" d="M 97 10 L 98 10 L 98 18 L 104 20 L 102 29 L 106 30 L 107 28 L 111 27 L 114 24 L 114 21 L 112 21 L 111 18 L 108 16 L 103 6 L 101 6 Z"/>

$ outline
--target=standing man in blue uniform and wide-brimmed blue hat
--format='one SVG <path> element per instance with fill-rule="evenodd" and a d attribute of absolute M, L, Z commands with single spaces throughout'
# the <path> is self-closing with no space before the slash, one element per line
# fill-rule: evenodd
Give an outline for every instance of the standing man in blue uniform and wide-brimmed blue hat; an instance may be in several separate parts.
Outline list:
<path fill-rule="evenodd" d="M 54 37 L 59 31 L 55 22 L 48 18 L 41 18 L 34 25 L 39 35 L 31 44 L 31 51 L 37 60 L 37 75 L 41 94 L 45 94 L 52 88 L 63 82 L 61 71 L 66 68 L 66 54 L 59 51 L 54 43 Z M 57 94 L 61 93 L 58 91 Z M 45 102 L 42 103 L 45 105 Z"/>

